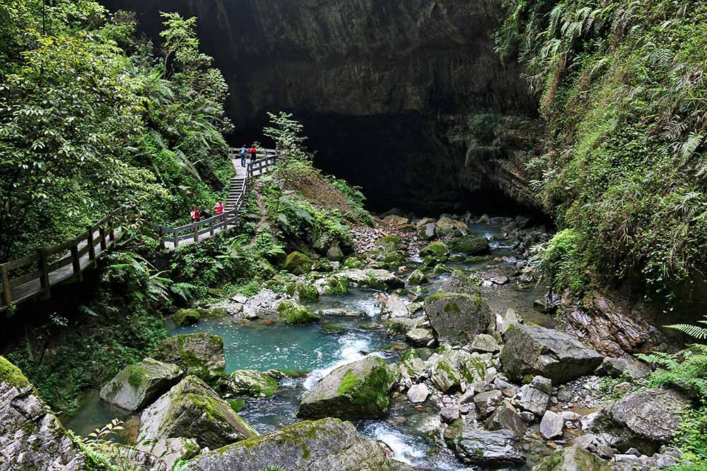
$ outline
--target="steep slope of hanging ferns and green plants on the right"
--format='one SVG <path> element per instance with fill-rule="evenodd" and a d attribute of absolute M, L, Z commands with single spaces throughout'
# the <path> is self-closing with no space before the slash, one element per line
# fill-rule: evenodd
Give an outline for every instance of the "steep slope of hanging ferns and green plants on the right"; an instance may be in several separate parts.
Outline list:
<path fill-rule="evenodd" d="M 506 0 L 498 50 L 527 64 L 547 120 L 529 162 L 561 232 L 555 285 L 667 294 L 707 262 L 707 2 Z"/>

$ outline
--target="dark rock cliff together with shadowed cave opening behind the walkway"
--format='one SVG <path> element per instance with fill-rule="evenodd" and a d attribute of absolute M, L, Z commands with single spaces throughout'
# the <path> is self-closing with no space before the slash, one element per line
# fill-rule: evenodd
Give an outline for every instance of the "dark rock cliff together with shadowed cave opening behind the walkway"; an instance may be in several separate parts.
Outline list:
<path fill-rule="evenodd" d="M 493 52 L 500 0 L 106 3 L 141 13 L 153 36 L 159 11 L 198 16 L 239 136 L 250 140 L 269 110 L 296 112 L 317 163 L 364 184 L 374 203 L 451 205 L 489 190 L 534 204 L 518 200 L 517 181 L 467 165 L 473 136 L 450 139 L 476 114 L 534 118 L 522 71 Z"/>

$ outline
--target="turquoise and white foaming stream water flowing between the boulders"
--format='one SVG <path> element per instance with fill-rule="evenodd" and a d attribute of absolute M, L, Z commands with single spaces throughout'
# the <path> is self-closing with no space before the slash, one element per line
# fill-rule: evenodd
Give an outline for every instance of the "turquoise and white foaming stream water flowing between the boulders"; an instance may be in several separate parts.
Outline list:
<path fill-rule="evenodd" d="M 513 263 L 502 257 L 517 256 L 510 244 L 501 239 L 500 227 L 473 225 L 472 232 L 484 235 L 491 242 L 491 256 L 470 263 L 449 263 L 450 268 L 474 271 L 482 278 L 493 275 L 512 275 Z M 498 240 L 501 239 L 501 240 Z M 408 270 L 413 270 L 419 260 L 411 258 Z M 429 276 L 433 276 L 432 274 Z M 426 285 L 428 292 L 436 292 L 449 275 L 431 278 Z M 542 297 L 542 287 L 520 289 L 514 282 L 506 285 L 481 287 L 484 298 L 492 311 L 504 314 L 512 308 L 526 322 L 553 327 L 554 321 L 532 309 L 534 299 Z M 341 364 L 361 359 L 365 354 L 375 354 L 388 362 L 396 362 L 402 353 L 399 340 L 387 338 L 385 329 L 378 324 L 380 303 L 378 293 L 372 290 L 351 290 L 343 296 L 322 296 L 309 306 L 315 311 L 331 307 L 350 307 L 366 311 L 366 316 L 327 316 L 322 322 L 308 326 L 284 324 L 250 325 L 235 324 L 230 318 L 210 318 L 194 326 L 171 330 L 172 335 L 208 332 L 223 338 L 226 354 L 226 371 L 237 369 L 288 369 L 308 371 L 303 378 L 287 378 L 281 382 L 281 392 L 267 399 L 246 399 L 240 415 L 252 424 L 260 434 L 274 431 L 298 421 L 296 411 L 298 399 L 320 378 Z M 337 329 L 325 328 L 334 324 Z M 340 328 L 340 329 L 339 329 Z M 123 441 L 131 441 L 136 434 L 138 419 L 126 412 L 100 402 L 98 393 L 91 393 L 78 414 L 66 420 L 66 427 L 77 434 L 85 435 L 102 427 L 110 419 L 126 421 Z M 398 395 L 392 405 L 390 416 L 382 420 L 363 420 L 356 423 L 361 434 L 383 441 L 395 454 L 395 458 L 416 467 L 417 470 L 472 470 L 459 463 L 446 448 L 436 443 L 429 429 L 438 429 L 438 412 L 431 406 L 412 405 Z M 430 438 L 428 438 L 430 437 Z M 545 454 L 545 453 L 543 453 Z M 518 469 L 527 469 L 532 463 Z"/>

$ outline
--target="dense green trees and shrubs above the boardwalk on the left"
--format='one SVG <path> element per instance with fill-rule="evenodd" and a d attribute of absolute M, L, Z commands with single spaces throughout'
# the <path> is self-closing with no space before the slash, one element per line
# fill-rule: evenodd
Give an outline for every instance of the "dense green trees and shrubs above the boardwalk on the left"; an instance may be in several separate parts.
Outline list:
<path fill-rule="evenodd" d="M 227 86 L 195 19 L 164 17 L 154 56 L 134 16 L 95 1 L 0 4 L 0 261 L 120 206 L 168 222 L 218 197 Z"/>

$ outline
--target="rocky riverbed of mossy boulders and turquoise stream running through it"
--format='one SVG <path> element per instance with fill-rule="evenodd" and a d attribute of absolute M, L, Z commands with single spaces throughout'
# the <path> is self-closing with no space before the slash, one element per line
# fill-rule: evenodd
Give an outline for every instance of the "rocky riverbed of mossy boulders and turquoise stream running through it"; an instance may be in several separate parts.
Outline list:
<path fill-rule="evenodd" d="M 667 444 L 686 398 L 645 389 L 637 359 L 555 330 L 529 259 L 541 228 L 389 215 L 353 232 L 354 256 L 293 253 L 261 292 L 177 312 L 173 336 L 67 426 L 118 417 L 153 469 L 677 462 Z"/>

